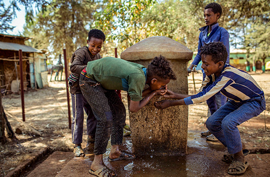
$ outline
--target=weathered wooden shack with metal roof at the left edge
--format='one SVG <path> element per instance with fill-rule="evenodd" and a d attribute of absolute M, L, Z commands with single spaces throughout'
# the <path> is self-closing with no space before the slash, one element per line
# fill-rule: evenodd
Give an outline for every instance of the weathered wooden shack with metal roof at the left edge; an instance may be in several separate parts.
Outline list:
<path fill-rule="evenodd" d="M 26 46 L 28 37 L 0 34 L 0 86 L 1 92 L 19 92 L 19 50 L 23 56 L 24 89 L 42 89 L 48 86 L 46 55 L 38 49 Z"/>

